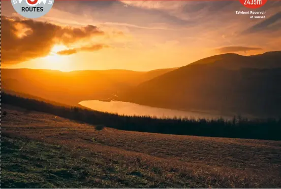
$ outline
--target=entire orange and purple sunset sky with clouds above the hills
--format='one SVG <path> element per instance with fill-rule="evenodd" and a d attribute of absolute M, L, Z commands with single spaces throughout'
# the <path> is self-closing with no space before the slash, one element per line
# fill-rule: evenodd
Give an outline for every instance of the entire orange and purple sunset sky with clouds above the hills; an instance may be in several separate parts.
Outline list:
<path fill-rule="evenodd" d="M 281 1 L 250 19 L 239 1 L 55 1 L 39 19 L 1 2 L 2 68 L 179 67 L 220 53 L 281 50 Z"/>

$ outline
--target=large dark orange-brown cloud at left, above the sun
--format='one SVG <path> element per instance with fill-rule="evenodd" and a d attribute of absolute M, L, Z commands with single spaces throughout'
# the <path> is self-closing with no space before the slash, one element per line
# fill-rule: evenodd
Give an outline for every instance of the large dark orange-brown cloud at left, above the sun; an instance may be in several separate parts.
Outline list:
<path fill-rule="evenodd" d="M 16 64 L 49 54 L 54 44 L 70 45 L 102 35 L 98 27 L 62 27 L 48 22 L 1 16 L 1 51 L 4 64 Z"/>

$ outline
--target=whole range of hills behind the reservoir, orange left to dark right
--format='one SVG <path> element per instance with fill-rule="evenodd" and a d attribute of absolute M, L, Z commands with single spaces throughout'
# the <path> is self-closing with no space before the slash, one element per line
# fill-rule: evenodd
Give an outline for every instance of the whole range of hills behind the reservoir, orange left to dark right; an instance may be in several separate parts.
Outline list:
<path fill-rule="evenodd" d="M 221 54 L 180 68 L 147 72 L 2 69 L 2 87 L 54 102 L 134 102 L 181 110 L 215 110 L 233 115 L 281 115 L 281 51 L 241 56 Z"/>

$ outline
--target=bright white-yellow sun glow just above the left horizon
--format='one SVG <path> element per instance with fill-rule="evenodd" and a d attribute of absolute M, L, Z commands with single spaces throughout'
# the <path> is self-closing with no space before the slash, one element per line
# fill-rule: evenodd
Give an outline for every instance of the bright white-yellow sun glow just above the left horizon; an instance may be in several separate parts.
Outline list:
<path fill-rule="evenodd" d="M 63 45 L 55 45 L 50 54 L 42 58 L 47 69 L 55 69 L 60 71 L 71 71 L 71 61 L 69 56 L 62 56 L 56 54 L 59 51 L 66 50 L 67 47 Z"/>

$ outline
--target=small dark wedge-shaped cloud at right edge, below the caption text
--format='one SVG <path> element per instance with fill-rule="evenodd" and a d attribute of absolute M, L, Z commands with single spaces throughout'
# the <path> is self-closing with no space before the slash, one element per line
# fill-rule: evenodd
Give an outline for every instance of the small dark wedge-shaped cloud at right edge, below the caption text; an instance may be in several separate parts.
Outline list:
<path fill-rule="evenodd" d="M 281 12 L 276 13 L 275 15 L 271 16 L 270 18 L 248 28 L 247 30 L 243 31 L 243 33 L 253 33 L 259 32 L 264 30 L 277 30 L 281 28 L 281 24 L 275 24 L 277 21 L 281 19 Z"/>

